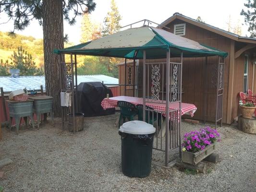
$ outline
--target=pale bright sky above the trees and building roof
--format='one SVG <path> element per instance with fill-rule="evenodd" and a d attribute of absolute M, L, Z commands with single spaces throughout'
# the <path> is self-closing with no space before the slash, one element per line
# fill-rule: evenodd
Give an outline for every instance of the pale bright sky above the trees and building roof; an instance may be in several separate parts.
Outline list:
<path fill-rule="evenodd" d="M 231 16 L 233 25 L 240 22 L 242 26 L 242 36 L 249 36 L 248 26 L 244 24 L 244 17 L 240 12 L 247 0 L 115 0 L 119 12 L 122 16 L 121 25 L 132 24 L 134 22 L 148 19 L 157 24 L 162 23 L 175 12 L 196 19 L 198 16 L 207 23 L 221 29 L 228 29 L 228 21 Z M 107 12 L 110 11 L 110 0 L 95 0 L 96 9 L 91 13 L 94 22 L 102 23 Z M 0 14 L 0 23 L 8 20 L 4 13 Z M 76 20 L 76 24 L 70 26 L 64 22 L 64 34 L 68 34 L 69 41 L 74 44 L 80 43 L 81 17 Z M 13 23 L 0 24 L 0 31 L 11 31 Z M 42 26 L 38 22 L 32 21 L 24 31 L 16 31 L 18 34 L 43 38 Z"/>

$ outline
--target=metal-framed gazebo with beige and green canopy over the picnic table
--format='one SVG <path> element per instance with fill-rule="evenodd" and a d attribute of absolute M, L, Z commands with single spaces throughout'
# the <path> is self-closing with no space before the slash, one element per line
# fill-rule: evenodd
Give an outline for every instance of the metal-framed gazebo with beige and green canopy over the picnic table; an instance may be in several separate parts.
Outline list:
<path fill-rule="evenodd" d="M 215 48 L 200 45 L 198 42 L 174 35 L 163 29 L 144 25 L 54 51 L 60 54 L 60 57 L 65 54 L 70 55 L 70 62 L 60 63 L 61 91 L 70 91 L 73 94 L 73 115 L 77 112 L 77 106 L 75 106 L 77 88 L 76 55 L 125 58 L 125 62 L 126 59 L 131 59 L 134 60 L 134 72 L 135 60 L 143 60 L 143 74 L 138 77 L 143 81 L 143 120 L 149 119 L 146 118 L 146 114 L 152 114 L 153 119 L 154 116 L 161 118 L 160 121 L 157 120 L 156 127 L 161 126 L 162 130 L 165 129 L 165 136 L 164 138 L 162 136 L 160 138 L 156 137 L 154 149 L 165 153 L 163 164 L 165 167 L 171 165 L 170 150 L 179 147 L 181 155 L 180 114 L 182 114 L 182 66 L 184 57 L 205 57 L 207 64 L 207 57 L 219 56 L 217 106 L 221 106 L 222 109 L 223 58 L 227 57 L 228 54 Z M 127 86 L 135 86 L 135 79 L 131 80 Z M 160 104 L 164 109 L 146 108 L 146 105 L 154 103 Z M 177 108 L 170 108 L 173 103 L 177 104 Z M 152 112 L 146 113 L 146 111 Z M 222 110 L 218 113 L 218 117 L 222 116 Z M 67 108 L 62 108 L 62 126 L 64 126 L 64 121 L 67 119 L 65 114 L 67 114 Z M 158 122 L 164 122 L 164 125 L 163 123 L 159 125 Z M 75 126 L 74 123 L 73 126 Z M 158 132 L 159 129 L 157 129 L 157 135 Z"/>

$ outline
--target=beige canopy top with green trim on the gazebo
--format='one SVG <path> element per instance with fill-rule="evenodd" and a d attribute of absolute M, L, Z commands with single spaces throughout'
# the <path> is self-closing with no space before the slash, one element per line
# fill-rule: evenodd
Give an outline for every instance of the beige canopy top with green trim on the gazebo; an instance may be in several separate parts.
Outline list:
<path fill-rule="evenodd" d="M 150 26 L 126 29 L 87 43 L 54 50 L 54 52 L 143 59 L 143 50 L 146 50 L 147 59 L 161 59 L 166 58 L 166 51 L 169 48 L 171 57 L 180 57 L 181 52 L 183 52 L 183 57 L 227 57 L 228 55 L 216 48 L 207 47 L 196 41 Z"/>

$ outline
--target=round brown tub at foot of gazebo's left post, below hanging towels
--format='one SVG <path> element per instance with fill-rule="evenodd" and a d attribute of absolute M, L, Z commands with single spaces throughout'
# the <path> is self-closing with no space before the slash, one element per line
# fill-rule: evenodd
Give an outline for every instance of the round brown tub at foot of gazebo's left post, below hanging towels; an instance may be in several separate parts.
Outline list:
<path fill-rule="evenodd" d="M 84 115 L 85 115 L 84 113 L 74 113 L 74 117 L 73 117 L 73 113 L 68 114 L 69 122 L 71 123 L 69 125 L 70 132 L 80 132 L 84 130 Z M 75 124 L 75 126 L 73 126 L 73 123 Z"/>

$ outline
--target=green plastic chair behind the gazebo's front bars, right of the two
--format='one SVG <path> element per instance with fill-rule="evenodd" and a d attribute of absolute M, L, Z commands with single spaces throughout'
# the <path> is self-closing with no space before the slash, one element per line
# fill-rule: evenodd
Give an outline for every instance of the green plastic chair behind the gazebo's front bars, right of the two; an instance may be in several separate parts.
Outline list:
<path fill-rule="evenodd" d="M 138 120 L 143 120 L 143 105 L 136 105 L 138 110 Z M 153 109 L 146 106 L 146 109 Z M 149 120 L 148 120 L 148 112 L 149 112 Z M 154 119 L 152 118 L 152 111 L 146 110 L 146 122 L 149 124 L 154 124 L 156 120 L 158 120 L 158 125 L 161 126 L 161 114 L 158 112 L 153 112 Z"/>

